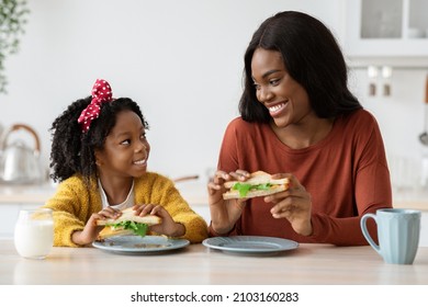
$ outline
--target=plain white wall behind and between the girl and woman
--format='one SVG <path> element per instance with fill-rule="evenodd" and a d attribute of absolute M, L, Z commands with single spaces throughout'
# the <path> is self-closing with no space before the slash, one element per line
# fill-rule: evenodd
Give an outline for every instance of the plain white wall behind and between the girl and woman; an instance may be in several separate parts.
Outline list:
<path fill-rule="evenodd" d="M 147 117 L 151 170 L 204 175 L 238 115 L 243 55 L 258 25 L 302 10 L 337 29 L 338 1 L 30 0 L 21 50 L 7 61 L 0 124 L 33 126 L 47 164 L 52 122 L 104 78 Z"/>

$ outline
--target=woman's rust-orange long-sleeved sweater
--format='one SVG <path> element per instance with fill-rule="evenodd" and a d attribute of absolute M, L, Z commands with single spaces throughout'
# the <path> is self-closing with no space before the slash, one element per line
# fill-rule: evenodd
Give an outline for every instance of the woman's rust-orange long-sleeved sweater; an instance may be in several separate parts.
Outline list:
<path fill-rule="evenodd" d="M 367 245 L 360 229 L 361 216 L 392 206 L 382 136 L 375 118 L 364 110 L 337 117 L 325 139 L 303 149 L 282 144 L 267 124 L 235 118 L 224 135 L 218 169 L 291 172 L 312 195 L 312 236 L 297 235 L 288 220 L 273 218 L 269 212 L 271 205 L 263 197 L 248 201 L 230 236 Z M 372 234 L 373 226 L 369 227 Z M 210 232 L 216 236 L 211 227 Z"/>

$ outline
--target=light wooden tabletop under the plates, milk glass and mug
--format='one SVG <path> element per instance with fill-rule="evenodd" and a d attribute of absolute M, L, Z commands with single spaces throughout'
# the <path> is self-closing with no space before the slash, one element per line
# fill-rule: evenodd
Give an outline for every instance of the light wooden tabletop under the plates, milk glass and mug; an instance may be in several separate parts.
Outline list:
<path fill-rule="evenodd" d="M 244 255 L 191 245 L 153 254 L 53 248 L 45 260 L 21 258 L 0 239 L 0 284 L 314 285 L 428 284 L 428 248 L 414 264 L 386 264 L 369 246 L 300 245 L 274 255 Z"/>

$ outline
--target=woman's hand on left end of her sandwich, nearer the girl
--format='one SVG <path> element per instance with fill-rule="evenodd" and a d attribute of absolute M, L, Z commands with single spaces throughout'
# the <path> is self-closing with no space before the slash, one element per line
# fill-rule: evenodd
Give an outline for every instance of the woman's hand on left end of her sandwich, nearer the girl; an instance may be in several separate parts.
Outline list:
<path fill-rule="evenodd" d="M 246 198 L 240 200 L 223 200 L 223 193 L 226 192 L 224 183 L 226 181 L 246 181 L 250 177 L 249 172 L 237 170 L 226 173 L 217 170 L 214 178 L 209 182 L 209 204 L 211 212 L 211 225 L 213 230 L 219 235 L 229 232 L 235 223 L 240 217 Z"/>

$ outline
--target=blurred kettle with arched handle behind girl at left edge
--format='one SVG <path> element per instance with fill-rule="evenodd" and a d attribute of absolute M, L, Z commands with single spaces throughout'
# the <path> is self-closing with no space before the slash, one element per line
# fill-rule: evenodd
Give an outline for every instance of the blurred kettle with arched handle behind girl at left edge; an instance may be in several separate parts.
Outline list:
<path fill-rule="evenodd" d="M 29 132 L 34 140 L 34 149 L 27 147 L 22 140 L 8 144 L 10 135 L 19 129 Z M 15 124 L 4 132 L 0 143 L 0 182 L 3 183 L 41 183 L 44 171 L 40 162 L 41 141 L 37 134 L 30 126 Z"/>

